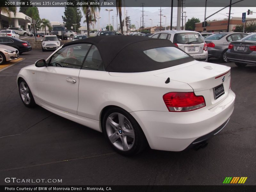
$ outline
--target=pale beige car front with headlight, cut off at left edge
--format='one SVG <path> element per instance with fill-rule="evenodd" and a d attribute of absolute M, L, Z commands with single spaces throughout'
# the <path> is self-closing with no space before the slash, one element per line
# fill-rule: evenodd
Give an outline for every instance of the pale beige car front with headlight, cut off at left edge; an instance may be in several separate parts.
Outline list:
<path fill-rule="evenodd" d="M 0 44 L 0 65 L 6 61 L 19 59 L 19 51 L 11 46 Z"/>

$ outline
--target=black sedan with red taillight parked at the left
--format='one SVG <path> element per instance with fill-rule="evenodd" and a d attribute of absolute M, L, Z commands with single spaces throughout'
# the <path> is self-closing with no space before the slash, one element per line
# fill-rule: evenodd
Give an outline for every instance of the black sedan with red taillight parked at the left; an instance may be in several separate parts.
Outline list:
<path fill-rule="evenodd" d="M 14 37 L 0 37 L 0 44 L 16 48 L 20 54 L 32 50 L 28 41 L 22 41 Z"/>

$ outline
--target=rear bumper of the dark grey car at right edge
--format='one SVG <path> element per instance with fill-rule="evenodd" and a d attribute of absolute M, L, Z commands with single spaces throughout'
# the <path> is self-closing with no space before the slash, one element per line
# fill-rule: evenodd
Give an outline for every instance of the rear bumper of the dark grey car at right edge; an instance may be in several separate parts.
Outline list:
<path fill-rule="evenodd" d="M 226 54 L 229 61 L 256 65 L 256 54 L 241 54 L 230 51 Z"/>

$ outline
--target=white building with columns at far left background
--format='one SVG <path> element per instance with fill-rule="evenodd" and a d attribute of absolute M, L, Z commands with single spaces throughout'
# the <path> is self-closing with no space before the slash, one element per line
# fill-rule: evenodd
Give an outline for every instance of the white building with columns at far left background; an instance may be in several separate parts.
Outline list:
<path fill-rule="evenodd" d="M 1 13 L 2 15 L 2 28 L 8 28 L 8 27 L 23 27 L 30 28 L 32 19 L 31 17 L 28 17 L 28 15 L 25 15 L 21 12 L 16 12 L 16 15 L 14 15 L 13 12 L 11 12 L 11 18 L 8 17 L 7 14 Z"/>

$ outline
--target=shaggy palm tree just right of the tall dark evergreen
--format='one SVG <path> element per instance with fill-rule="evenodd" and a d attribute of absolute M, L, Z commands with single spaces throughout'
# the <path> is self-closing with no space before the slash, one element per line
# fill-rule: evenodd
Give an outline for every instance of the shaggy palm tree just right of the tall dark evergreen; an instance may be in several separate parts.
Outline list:
<path fill-rule="evenodd" d="M 87 6 L 82 7 L 82 10 L 83 10 L 84 15 L 85 15 L 85 20 L 84 21 L 87 23 L 87 35 L 89 36 L 89 31 L 90 31 L 89 23 L 92 22 L 92 19 L 94 19 L 96 17 L 95 12 L 97 10 L 100 11 L 100 5 L 90 6 L 90 2 L 99 3 L 100 0 L 83 0 L 83 1 L 88 3 Z M 96 20 L 94 22 L 96 23 Z"/>

